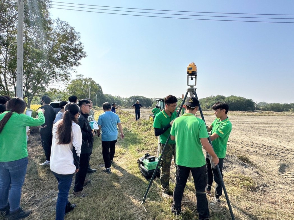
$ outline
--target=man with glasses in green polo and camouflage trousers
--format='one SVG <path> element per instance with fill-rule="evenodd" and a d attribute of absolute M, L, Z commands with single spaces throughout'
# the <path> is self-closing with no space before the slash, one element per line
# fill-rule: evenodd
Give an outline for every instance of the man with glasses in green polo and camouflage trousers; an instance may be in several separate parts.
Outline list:
<path fill-rule="evenodd" d="M 174 119 L 177 117 L 175 108 L 177 106 L 177 98 L 173 95 L 168 95 L 164 99 L 165 107 L 164 110 L 156 114 L 153 122 L 155 136 L 160 136 L 161 151 L 168 139 L 171 131 L 171 125 Z M 171 195 L 169 190 L 169 173 L 171 171 L 171 158 L 174 155 L 175 161 L 175 140 L 169 139 L 164 154 L 162 155 L 161 161 L 161 173 L 160 173 L 160 184 L 161 189 L 164 193 Z"/>

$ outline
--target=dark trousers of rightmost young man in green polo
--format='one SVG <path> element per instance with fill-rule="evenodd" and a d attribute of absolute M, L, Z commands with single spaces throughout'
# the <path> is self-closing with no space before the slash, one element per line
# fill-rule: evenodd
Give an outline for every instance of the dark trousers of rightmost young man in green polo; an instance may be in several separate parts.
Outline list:
<path fill-rule="evenodd" d="M 222 191 L 223 191 L 223 185 L 220 181 L 220 175 L 217 172 L 216 168 L 212 168 L 210 164 L 209 158 L 206 159 L 206 166 L 207 166 L 207 186 L 206 189 L 211 191 L 211 185 L 213 183 L 213 178 L 215 181 L 215 197 L 220 198 Z M 223 165 L 224 165 L 224 158 L 219 158 L 218 166 L 220 167 L 220 173 L 223 177 Z"/>

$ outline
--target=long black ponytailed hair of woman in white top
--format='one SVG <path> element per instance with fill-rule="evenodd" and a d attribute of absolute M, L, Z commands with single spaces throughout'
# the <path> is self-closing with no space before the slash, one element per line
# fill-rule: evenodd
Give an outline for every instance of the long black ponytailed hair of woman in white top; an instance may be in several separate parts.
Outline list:
<path fill-rule="evenodd" d="M 72 121 L 77 123 L 75 115 L 80 112 L 80 107 L 76 103 L 68 103 L 64 110 L 62 121 L 57 125 L 58 144 L 70 143 Z"/>

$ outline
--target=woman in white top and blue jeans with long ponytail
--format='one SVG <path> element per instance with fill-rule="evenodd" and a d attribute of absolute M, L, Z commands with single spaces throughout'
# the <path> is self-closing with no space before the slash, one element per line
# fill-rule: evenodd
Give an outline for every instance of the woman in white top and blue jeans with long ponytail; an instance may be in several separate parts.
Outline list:
<path fill-rule="evenodd" d="M 64 214 L 76 207 L 67 197 L 75 173 L 79 171 L 82 145 L 81 128 L 77 124 L 80 108 L 76 103 L 68 103 L 61 120 L 53 125 L 50 169 L 58 181 L 56 218 L 64 219 Z"/>

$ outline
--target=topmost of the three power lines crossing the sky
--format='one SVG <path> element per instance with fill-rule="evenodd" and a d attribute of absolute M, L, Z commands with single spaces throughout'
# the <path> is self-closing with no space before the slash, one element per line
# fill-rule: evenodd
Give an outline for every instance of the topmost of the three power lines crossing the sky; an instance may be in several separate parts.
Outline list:
<path fill-rule="evenodd" d="M 171 11 L 171 12 L 189 12 L 189 13 L 212 13 L 212 14 L 247 14 L 247 15 L 284 15 L 284 16 L 294 16 L 294 14 L 258 14 L 258 13 L 226 13 L 226 12 L 201 12 L 201 11 L 175 11 L 175 10 L 162 10 L 162 9 L 142 9 L 142 8 L 124 8 L 124 7 L 113 7 L 113 6 L 99 6 L 99 5 L 86 5 L 68 2 L 55 2 L 70 5 L 82 5 L 82 6 L 96 6 L 96 7 L 107 7 L 107 8 L 121 8 L 121 9 L 136 9 L 136 10 L 151 10 L 151 11 Z"/>

